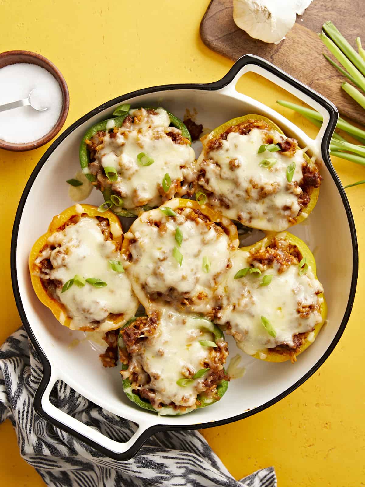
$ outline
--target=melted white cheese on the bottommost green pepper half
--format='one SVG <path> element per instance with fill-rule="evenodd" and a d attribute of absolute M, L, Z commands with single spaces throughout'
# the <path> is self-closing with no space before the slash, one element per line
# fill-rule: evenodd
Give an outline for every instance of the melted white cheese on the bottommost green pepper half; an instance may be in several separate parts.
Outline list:
<path fill-rule="evenodd" d="M 156 333 L 144 342 L 142 352 L 132 358 L 151 377 L 143 387 L 154 389 L 166 405 L 174 402 L 195 409 L 197 395 L 205 389 L 202 383 L 206 377 L 195 379 L 186 387 L 177 385 L 176 381 L 211 365 L 211 349 L 202 346 L 199 340 L 215 341 L 212 332 L 213 325 L 207 319 L 164 309 Z"/>

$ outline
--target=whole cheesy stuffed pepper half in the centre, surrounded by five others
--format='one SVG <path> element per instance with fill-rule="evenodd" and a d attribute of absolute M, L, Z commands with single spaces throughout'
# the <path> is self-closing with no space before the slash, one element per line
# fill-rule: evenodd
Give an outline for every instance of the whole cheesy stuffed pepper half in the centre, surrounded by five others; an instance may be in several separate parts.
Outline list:
<path fill-rule="evenodd" d="M 168 303 L 209 316 L 214 290 L 238 244 L 230 220 L 197 201 L 174 198 L 133 222 L 122 253 L 147 314 Z"/>

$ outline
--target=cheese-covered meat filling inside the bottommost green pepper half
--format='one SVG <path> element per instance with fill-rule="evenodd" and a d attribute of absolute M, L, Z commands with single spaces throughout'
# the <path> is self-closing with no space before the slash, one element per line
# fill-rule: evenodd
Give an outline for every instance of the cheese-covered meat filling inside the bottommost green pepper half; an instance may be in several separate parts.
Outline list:
<path fill-rule="evenodd" d="M 217 386 L 228 380 L 223 364 L 228 355 L 224 338 L 216 347 L 202 345 L 214 340 L 213 324 L 192 315 L 164 309 L 149 318 L 137 318 L 121 330 L 124 346 L 120 360 L 129 379 L 128 392 L 138 394 L 161 414 L 183 414 L 207 402 L 219 400 Z M 205 371 L 203 369 L 206 369 Z"/>

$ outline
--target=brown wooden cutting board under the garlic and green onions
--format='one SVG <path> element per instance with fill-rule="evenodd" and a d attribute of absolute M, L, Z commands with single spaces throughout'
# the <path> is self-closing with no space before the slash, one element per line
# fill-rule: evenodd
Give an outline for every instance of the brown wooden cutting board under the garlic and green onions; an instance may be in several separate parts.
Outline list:
<path fill-rule="evenodd" d="M 353 47 L 358 36 L 363 37 L 365 44 L 364 0 L 314 0 L 302 16 L 297 16 L 286 38 L 276 45 L 253 39 L 237 27 L 233 0 L 211 0 L 201 20 L 200 33 L 206 46 L 234 61 L 244 54 L 264 57 L 329 98 L 342 115 L 365 124 L 365 110 L 341 89 L 347 78 L 322 55 L 330 54 L 317 34 L 327 20 L 332 20 Z"/>

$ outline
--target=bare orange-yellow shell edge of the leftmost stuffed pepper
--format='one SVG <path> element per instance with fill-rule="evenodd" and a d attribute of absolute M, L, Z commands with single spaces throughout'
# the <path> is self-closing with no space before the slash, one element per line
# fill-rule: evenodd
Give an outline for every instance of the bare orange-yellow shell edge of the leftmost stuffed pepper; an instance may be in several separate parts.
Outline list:
<path fill-rule="evenodd" d="M 119 221 L 119 218 L 114 215 L 111 211 L 104 211 L 100 213 L 96 206 L 92 205 L 74 205 L 70 208 L 65 209 L 59 215 L 56 215 L 53 219 L 51 224 L 48 227 L 48 231 L 39 237 L 36 243 L 33 245 L 32 250 L 29 255 L 29 271 L 31 276 L 32 285 L 34 291 L 37 295 L 37 298 L 41 301 L 42 304 L 49 308 L 55 318 L 64 326 L 69 327 L 72 321 L 67 315 L 67 310 L 65 306 L 60 303 L 59 301 L 52 298 L 43 287 L 42 281 L 39 277 L 39 267 L 35 263 L 37 257 L 39 256 L 40 252 L 47 244 L 47 240 L 50 238 L 52 234 L 57 232 L 65 223 L 67 223 L 70 218 L 75 215 L 81 215 L 86 213 L 90 217 L 102 217 L 107 218 L 110 223 L 110 233 L 112 235 L 113 242 L 118 244 L 119 248 L 123 242 L 123 231 Z M 109 318 L 114 324 L 110 327 L 110 330 L 115 330 L 121 326 L 125 322 L 125 318 L 123 315 L 113 315 Z M 97 328 L 90 329 L 89 327 L 79 328 L 81 331 L 97 331 Z"/>

